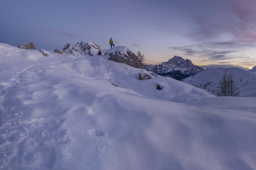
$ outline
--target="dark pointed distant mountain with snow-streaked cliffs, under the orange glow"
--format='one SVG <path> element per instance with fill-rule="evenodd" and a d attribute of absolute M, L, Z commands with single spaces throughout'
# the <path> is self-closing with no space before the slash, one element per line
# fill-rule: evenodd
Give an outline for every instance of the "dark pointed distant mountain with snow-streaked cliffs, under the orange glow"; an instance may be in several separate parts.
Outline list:
<path fill-rule="evenodd" d="M 191 75 L 197 74 L 203 71 L 202 67 L 194 65 L 191 60 L 183 59 L 180 56 L 174 56 L 168 61 L 158 64 L 158 65 L 144 65 L 144 69 L 147 71 L 152 71 L 158 75 L 163 75 L 166 77 L 172 77 L 176 80 L 182 80 Z"/>

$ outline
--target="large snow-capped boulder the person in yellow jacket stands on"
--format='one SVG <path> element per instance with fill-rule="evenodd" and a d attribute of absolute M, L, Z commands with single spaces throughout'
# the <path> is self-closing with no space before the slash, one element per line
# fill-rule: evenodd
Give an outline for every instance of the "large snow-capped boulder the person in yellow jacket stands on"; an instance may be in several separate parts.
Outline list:
<path fill-rule="evenodd" d="M 111 48 L 104 55 L 109 55 L 109 60 L 117 63 L 124 63 L 135 68 L 140 68 L 141 66 L 139 58 L 129 48 L 124 46 Z"/>

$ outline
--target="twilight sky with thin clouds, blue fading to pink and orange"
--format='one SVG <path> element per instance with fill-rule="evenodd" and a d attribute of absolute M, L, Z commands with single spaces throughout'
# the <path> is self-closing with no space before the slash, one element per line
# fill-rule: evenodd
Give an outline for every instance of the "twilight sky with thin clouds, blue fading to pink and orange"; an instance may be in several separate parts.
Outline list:
<path fill-rule="evenodd" d="M 0 42 L 54 50 L 91 40 L 203 67 L 256 65 L 256 0 L 2 0 Z"/>

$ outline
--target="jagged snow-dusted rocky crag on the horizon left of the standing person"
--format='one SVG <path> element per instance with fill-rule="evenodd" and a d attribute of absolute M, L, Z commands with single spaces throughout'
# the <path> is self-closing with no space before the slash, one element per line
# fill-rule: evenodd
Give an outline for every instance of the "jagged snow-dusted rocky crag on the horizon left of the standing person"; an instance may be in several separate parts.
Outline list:
<path fill-rule="evenodd" d="M 76 43 L 73 43 L 72 45 L 67 43 L 64 46 L 63 50 L 56 48 L 54 52 L 59 54 L 72 54 L 73 56 L 80 56 L 80 55 L 95 56 L 95 55 L 98 55 L 99 49 L 100 47 L 91 41 L 89 42 L 81 41 L 80 43 L 76 42 Z"/>

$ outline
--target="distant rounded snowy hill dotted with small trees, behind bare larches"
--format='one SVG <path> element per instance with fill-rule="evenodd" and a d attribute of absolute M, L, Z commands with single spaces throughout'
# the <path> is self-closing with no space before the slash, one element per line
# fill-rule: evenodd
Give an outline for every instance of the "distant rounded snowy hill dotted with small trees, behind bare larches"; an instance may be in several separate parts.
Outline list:
<path fill-rule="evenodd" d="M 182 82 L 217 95 L 218 85 L 224 71 L 227 71 L 227 73 L 232 72 L 240 91 L 240 97 L 256 96 L 256 74 L 237 67 L 206 69 L 196 75 L 183 79 Z"/>

